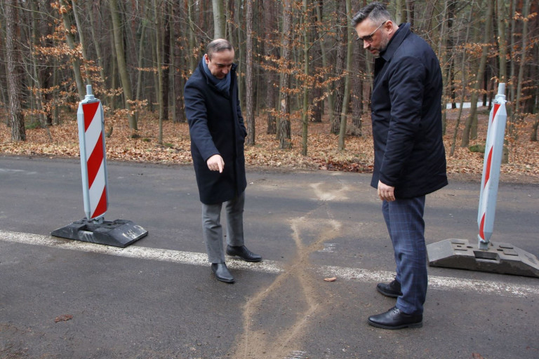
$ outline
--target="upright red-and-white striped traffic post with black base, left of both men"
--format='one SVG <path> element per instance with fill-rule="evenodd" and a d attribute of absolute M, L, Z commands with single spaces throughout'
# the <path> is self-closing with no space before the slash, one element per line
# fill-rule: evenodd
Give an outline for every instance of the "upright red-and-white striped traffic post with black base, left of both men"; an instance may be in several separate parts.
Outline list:
<path fill-rule="evenodd" d="M 100 100 L 86 86 L 76 113 L 79 124 L 82 194 L 86 217 L 51 232 L 52 236 L 125 248 L 148 232 L 126 219 L 105 221 L 109 206 L 105 158 L 105 116 Z"/>

